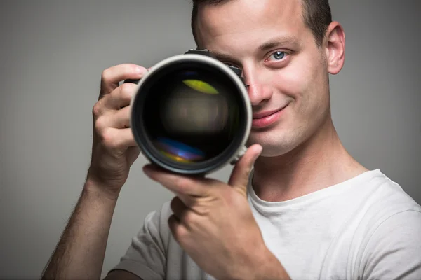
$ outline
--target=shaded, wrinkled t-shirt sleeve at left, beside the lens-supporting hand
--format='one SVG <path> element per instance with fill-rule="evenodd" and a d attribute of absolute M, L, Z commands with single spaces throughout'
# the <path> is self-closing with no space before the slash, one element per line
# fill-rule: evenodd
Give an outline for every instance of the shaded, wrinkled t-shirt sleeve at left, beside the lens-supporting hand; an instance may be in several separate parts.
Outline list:
<path fill-rule="evenodd" d="M 145 280 L 164 279 L 169 235 L 167 221 L 170 214 L 168 202 L 163 204 L 159 211 L 147 214 L 141 230 L 132 238 L 126 254 L 109 272 L 123 269 Z"/>

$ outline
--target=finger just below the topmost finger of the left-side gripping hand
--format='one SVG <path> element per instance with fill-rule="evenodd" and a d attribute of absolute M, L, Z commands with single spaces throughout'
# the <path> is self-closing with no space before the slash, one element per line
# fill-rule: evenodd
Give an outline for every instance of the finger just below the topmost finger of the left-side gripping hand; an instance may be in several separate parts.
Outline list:
<path fill-rule="evenodd" d="M 131 99 L 136 93 L 138 85 L 134 83 L 123 83 L 110 94 L 103 97 L 100 102 L 106 109 L 119 110 L 125 106 L 130 105 Z"/>

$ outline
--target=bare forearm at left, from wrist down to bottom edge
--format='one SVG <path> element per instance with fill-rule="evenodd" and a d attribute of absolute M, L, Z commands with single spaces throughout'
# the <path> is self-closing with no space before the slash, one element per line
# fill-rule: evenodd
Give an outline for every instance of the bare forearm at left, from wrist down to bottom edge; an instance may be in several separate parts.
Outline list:
<path fill-rule="evenodd" d="M 42 279 L 100 279 L 118 194 L 87 181 Z"/>

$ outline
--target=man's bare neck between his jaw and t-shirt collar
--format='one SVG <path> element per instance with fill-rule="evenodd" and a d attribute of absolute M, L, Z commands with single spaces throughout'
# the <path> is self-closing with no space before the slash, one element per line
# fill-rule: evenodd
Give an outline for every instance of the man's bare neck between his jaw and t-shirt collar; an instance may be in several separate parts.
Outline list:
<path fill-rule="evenodd" d="M 258 158 L 254 165 L 253 189 L 262 200 L 291 200 L 366 171 L 342 146 L 328 116 L 312 137 L 292 151 Z"/>

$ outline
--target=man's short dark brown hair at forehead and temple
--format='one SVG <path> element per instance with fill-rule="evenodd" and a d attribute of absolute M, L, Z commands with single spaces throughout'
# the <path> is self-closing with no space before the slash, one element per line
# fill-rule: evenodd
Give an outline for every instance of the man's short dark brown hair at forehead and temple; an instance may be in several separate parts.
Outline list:
<path fill-rule="evenodd" d="M 196 45 L 199 42 L 196 34 L 197 14 L 200 5 L 222 5 L 232 0 L 193 0 L 192 8 L 192 33 Z M 330 22 L 332 13 L 328 0 L 302 0 L 303 18 L 305 25 L 312 30 L 316 44 L 321 46 Z"/>

